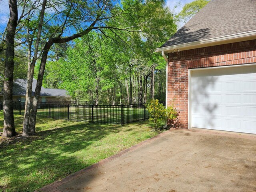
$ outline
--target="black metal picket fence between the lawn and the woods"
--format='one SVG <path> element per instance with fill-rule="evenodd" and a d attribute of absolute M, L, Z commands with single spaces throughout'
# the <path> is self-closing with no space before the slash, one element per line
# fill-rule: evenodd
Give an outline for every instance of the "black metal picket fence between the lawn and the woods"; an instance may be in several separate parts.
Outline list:
<path fill-rule="evenodd" d="M 0 110 L 2 109 L 0 103 Z M 25 103 L 13 102 L 14 110 L 24 114 Z M 129 105 L 88 105 L 74 102 L 39 102 L 37 116 L 44 118 L 83 121 L 91 123 L 128 124 L 147 120 L 148 110 L 145 104 Z"/>

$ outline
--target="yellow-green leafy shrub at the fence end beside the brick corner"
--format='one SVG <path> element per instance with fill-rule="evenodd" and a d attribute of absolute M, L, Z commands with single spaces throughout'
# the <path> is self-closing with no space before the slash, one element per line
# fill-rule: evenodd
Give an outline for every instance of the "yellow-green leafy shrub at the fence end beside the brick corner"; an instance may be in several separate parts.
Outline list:
<path fill-rule="evenodd" d="M 155 130 L 162 130 L 166 121 L 166 109 L 158 99 L 149 100 L 146 104 L 150 114 L 149 120 L 153 122 Z"/>

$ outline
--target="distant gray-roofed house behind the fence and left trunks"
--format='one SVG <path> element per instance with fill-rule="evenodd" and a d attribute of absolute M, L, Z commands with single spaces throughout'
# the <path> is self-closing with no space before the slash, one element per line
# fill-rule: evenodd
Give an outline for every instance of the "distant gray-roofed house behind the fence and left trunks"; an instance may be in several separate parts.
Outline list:
<path fill-rule="evenodd" d="M 34 91 L 36 89 L 36 80 L 33 80 L 32 84 L 32 96 L 34 96 Z M 13 101 L 21 101 L 25 102 L 26 96 L 26 87 L 27 80 L 17 79 L 13 84 Z M 1 89 L 2 90 L 2 89 Z M 49 88 L 41 88 L 40 92 L 40 102 L 48 102 L 48 101 L 66 101 L 70 100 L 70 96 L 67 94 L 65 89 L 49 89 Z M 0 92 L 0 102 L 3 101 L 3 93 Z"/>

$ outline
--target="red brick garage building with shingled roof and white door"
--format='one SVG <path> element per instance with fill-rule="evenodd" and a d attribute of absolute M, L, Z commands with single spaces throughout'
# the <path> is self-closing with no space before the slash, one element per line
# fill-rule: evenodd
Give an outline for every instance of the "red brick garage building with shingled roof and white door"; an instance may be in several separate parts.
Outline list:
<path fill-rule="evenodd" d="M 156 52 L 182 128 L 256 134 L 256 0 L 212 0 Z"/>

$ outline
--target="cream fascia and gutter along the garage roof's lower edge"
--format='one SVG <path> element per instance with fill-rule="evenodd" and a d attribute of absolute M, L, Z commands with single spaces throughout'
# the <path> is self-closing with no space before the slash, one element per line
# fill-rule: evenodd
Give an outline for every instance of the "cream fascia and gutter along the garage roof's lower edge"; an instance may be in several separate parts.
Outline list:
<path fill-rule="evenodd" d="M 156 52 L 164 51 L 165 53 L 169 53 L 169 52 L 176 52 L 178 50 L 184 51 L 184 50 L 215 46 L 215 45 L 221 45 L 221 44 L 227 44 L 227 43 L 234 43 L 234 42 L 240 42 L 240 41 L 246 41 L 246 40 L 254 40 L 254 39 L 256 39 L 256 30 L 227 35 L 227 36 L 221 36 L 216 38 L 210 38 L 205 40 L 199 40 L 199 41 L 194 41 L 189 43 L 183 43 L 183 44 L 178 44 L 178 45 L 173 45 L 168 47 L 157 48 Z"/>

